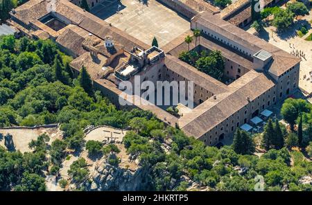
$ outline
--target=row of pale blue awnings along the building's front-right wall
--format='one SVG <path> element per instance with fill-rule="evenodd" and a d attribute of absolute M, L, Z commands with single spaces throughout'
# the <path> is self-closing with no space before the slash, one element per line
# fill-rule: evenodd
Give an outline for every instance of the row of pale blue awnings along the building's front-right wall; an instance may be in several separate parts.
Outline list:
<path fill-rule="evenodd" d="M 273 112 L 265 109 L 259 116 L 254 116 L 248 123 L 241 125 L 241 130 L 245 130 L 250 134 L 263 132 L 263 127 L 266 125 L 266 121 L 272 117 Z"/>

